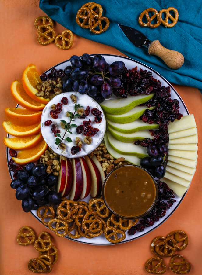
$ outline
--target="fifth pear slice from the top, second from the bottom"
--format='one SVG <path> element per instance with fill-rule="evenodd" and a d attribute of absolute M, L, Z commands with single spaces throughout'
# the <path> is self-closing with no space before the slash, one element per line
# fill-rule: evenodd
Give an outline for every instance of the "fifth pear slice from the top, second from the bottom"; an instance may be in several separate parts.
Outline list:
<path fill-rule="evenodd" d="M 140 158 L 148 156 L 147 149 L 134 143 L 125 143 L 115 139 L 109 131 L 107 131 L 107 138 L 112 148 L 119 154 L 134 155 Z"/>

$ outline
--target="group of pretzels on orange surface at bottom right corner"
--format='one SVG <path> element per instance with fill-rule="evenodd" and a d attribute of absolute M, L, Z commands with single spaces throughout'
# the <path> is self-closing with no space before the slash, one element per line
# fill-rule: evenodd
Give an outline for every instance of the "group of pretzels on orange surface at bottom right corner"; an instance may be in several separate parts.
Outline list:
<path fill-rule="evenodd" d="M 189 273 L 191 270 L 190 263 L 186 261 L 183 255 L 175 254 L 176 251 L 185 249 L 187 245 L 188 236 L 183 230 L 172 231 L 166 237 L 155 237 L 151 242 L 151 252 L 155 256 L 145 263 L 146 271 L 154 274 L 165 273 L 166 265 L 161 257 L 171 257 L 169 268 L 172 272 L 176 274 Z"/>

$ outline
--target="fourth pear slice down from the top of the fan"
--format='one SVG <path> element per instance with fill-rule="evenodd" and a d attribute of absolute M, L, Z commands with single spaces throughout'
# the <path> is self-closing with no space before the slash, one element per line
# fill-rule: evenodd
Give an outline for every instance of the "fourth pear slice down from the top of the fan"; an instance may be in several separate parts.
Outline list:
<path fill-rule="evenodd" d="M 108 125 L 108 130 L 112 136 L 123 142 L 134 142 L 136 140 L 143 140 L 145 138 L 153 138 L 148 130 L 138 131 L 132 134 L 124 134 L 114 130 Z"/>

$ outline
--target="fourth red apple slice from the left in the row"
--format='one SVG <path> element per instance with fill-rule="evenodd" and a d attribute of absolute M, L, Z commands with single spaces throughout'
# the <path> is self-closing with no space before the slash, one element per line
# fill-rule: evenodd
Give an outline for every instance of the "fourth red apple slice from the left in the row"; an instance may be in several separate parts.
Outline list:
<path fill-rule="evenodd" d="M 90 169 L 88 168 L 88 165 L 84 158 L 79 158 L 81 163 L 81 168 L 83 172 L 83 191 L 80 196 L 80 199 L 84 199 L 90 194 L 91 189 L 91 174 Z"/>

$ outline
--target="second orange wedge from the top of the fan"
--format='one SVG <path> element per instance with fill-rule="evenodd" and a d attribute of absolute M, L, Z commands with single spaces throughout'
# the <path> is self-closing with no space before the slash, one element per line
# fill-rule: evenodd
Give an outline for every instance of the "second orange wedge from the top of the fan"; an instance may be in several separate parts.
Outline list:
<path fill-rule="evenodd" d="M 27 108 L 31 111 L 39 111 L 43 110 L 45 107 L 45 104 L 39 103 L 28 96 L 28 94 L 25 92 L 23 85 L 15 80 L 11 84 L 11 94 L 14 97 L 14 99 L 24 108 Z"/>

